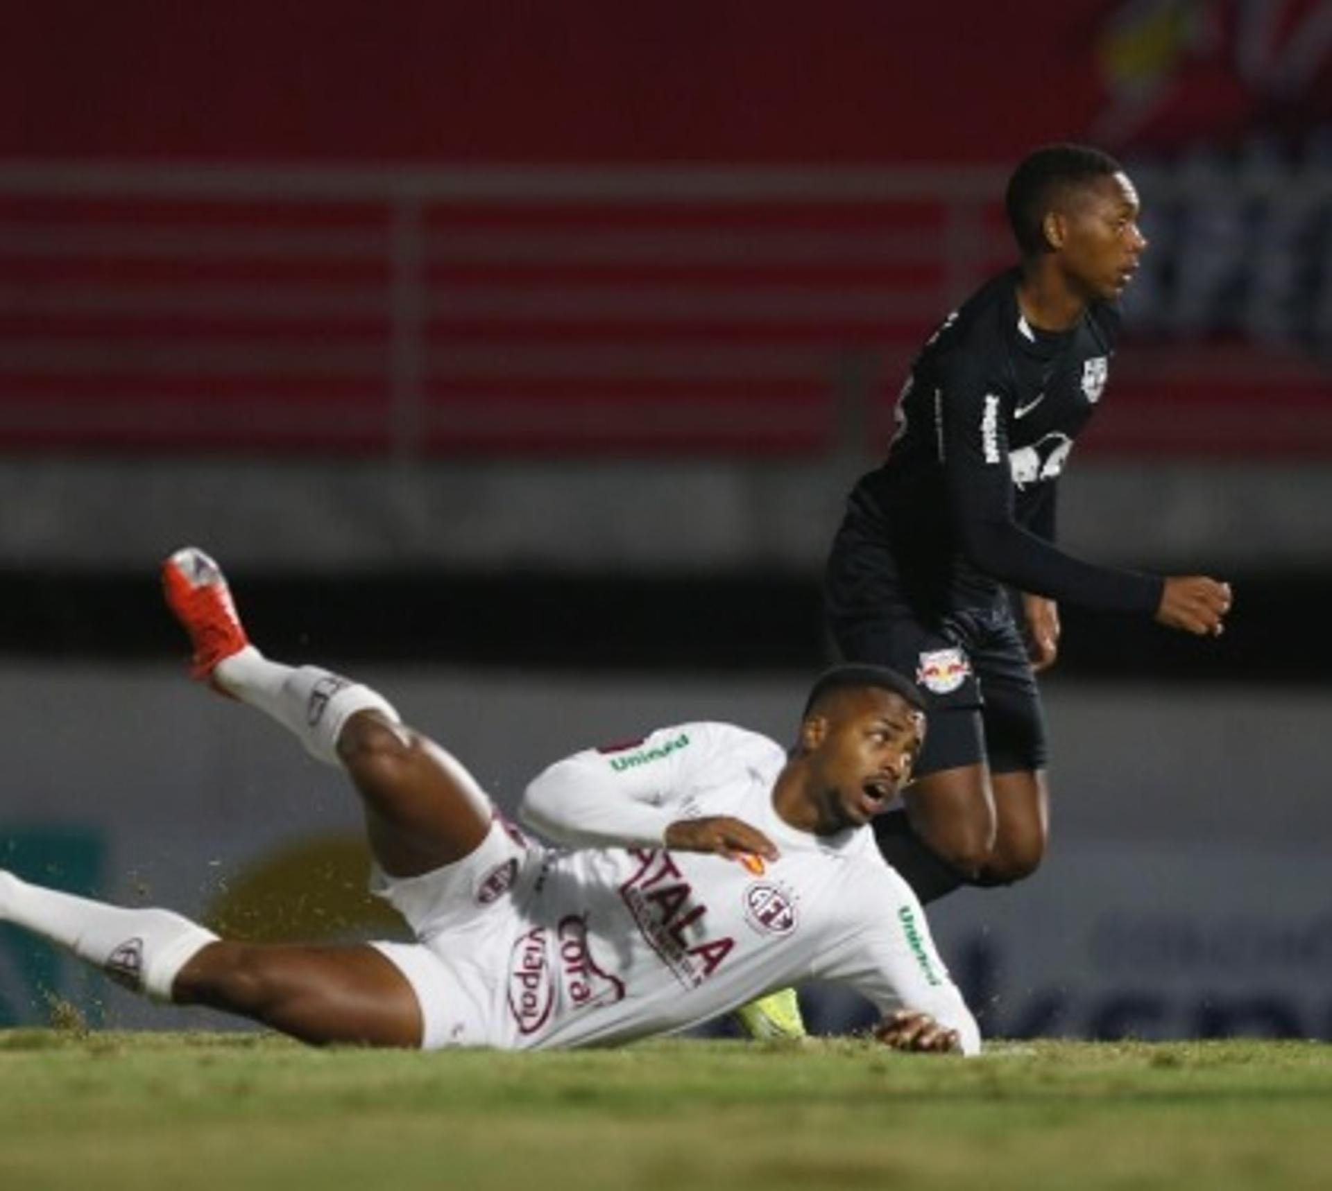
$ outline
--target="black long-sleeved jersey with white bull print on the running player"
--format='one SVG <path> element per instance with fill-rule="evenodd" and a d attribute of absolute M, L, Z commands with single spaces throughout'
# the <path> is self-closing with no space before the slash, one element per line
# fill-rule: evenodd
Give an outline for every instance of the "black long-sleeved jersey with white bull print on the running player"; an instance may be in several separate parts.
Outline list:
<path fill-rule="evenodd" d="M 1155 612 L 1162 580 L 1059 551 L 1055 486 L 1106 387 L 1119 333 L 1108 303 L 1054 334 L 1018 307 L 1016 269 L 944 319 L 911 367 L 882 467 L 850 515 L 891 547 L 906 594 L 936 611 L 992 603 L 1000 584 L 1087 608 Z"/>

